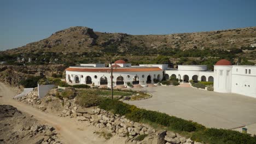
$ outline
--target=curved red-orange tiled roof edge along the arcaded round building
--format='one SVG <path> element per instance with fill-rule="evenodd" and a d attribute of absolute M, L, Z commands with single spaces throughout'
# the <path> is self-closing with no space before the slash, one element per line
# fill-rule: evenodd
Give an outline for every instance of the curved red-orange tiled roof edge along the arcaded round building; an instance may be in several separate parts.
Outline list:
<path fill-rule="evenodd" d="M 88 72 L 109 72 L 110 68 L 67 68 L 67 71 L 88 71 Z M 113 72 L 137 72 L 137 71 L 159 71 L 158 67 L 154 68 L 114 68 Z"/>

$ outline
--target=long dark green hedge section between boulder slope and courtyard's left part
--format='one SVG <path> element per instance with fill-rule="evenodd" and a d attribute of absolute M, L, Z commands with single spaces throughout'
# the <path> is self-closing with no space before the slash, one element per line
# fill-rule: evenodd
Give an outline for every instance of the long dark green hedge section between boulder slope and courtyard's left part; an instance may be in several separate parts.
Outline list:
<path fill-rule="evenodd" d="M 165 127 L 171 127 L 174 130 L 189 132 L 205 129 L 205 127 L 201 124 L 190 122 L 182 118 L 169 116 L 166 113 L 139 109 L 136 106 L 125 104 L 119 100 L 112 101 L 111 99 L 104 99 L 101 101 L 99 107 L 107 111 L 112 111 L 115 114 L 125 115 L 135 122 L 147 120 L 164 125 Z"/>

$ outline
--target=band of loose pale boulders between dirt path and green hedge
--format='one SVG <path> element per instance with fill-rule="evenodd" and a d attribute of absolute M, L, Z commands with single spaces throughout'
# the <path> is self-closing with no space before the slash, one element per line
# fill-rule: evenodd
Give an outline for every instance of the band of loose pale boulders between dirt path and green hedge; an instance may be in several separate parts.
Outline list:
<path fill-rule="evenodd" d="M 123 137 L 125 143 L 183 143 L 200 144 L 172 131 L 154 129 L 147 124 L 130 121 L 125 116 L 114 115 L 97 107 L 84 108 L 74 103 L 75 99 L 59 99 L 55 97 L 56 89 L 49 92 L 43 99 L 38 99 L 37 91 L 28 93 L 19 101 L 27 103 L 44 112 L 55 113 L 60 117 L 69 117 L 79 122 L 87 122 L 96 127 L 95 134 L 102 134 L 107 140 L 112 137 Z M 143 137 L 139 139 L 138 137 Z"/>

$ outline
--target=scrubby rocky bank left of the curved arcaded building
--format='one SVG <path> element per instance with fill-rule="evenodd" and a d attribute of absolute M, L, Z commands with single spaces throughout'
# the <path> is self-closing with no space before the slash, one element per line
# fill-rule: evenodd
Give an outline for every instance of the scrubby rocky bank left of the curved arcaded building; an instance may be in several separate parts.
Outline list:
<path fill-rule="evenodd" d="M 52 76 L 62 74 L 64 65 L 0 65 L 0 81 L 18 86 L 28 76 Z"/>

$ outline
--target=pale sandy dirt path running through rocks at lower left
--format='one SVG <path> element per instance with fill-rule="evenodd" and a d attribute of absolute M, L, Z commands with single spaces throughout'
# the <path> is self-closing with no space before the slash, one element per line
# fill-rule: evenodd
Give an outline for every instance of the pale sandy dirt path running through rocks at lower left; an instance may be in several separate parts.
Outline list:
<path fill-rule="evenodd" d="M 17 93 L 13 88 L 0 82 L 0 104 L 13 105 L 18 110 L 33 115 L 38 121 L 52 125 L 61 135 L 61 140 L 65 143 L 106 143 L 92 132 L 94 127 L 85 127 L 71 118 L 58 117 L 51 113 L 44 113 L 29 105 L 16 101 L 13 98 Z"/>

